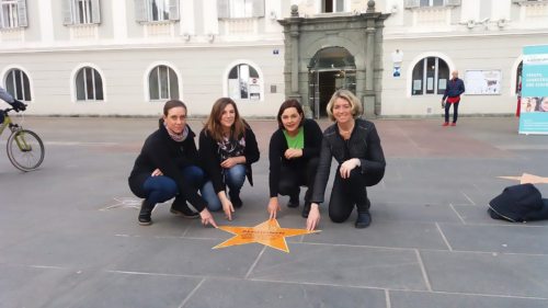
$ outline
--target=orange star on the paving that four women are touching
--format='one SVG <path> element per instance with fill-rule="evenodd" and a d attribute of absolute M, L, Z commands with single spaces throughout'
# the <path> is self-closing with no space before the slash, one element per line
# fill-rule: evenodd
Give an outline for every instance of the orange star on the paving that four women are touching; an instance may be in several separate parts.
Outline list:
<path fill-rule="evenodd" d="M 213 249 L 246 243 L 262 243 L 289 253 L 285 238 L 300 235 L 309 235 L 318 231 L 308 231 L 305 229 L 279 228 L 276 219 L 266 220 L 254 227 L 231 227 L 220 226 L 219 229 L 235 235 L 235 237 L 219 243 Z"/>

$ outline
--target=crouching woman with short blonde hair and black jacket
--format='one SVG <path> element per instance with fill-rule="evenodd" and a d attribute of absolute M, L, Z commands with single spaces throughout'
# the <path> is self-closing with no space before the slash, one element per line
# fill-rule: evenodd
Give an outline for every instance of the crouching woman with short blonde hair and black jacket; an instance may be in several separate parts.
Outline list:
<path fill-rule="evenodd" d="M 362 105 L 349 90 L 338 90 L 329 101 L 327 111 L 335 124 L 323 132 L 307 229 L 313 230 L 320 221 L 318 203 L 323 202 L 332 158 L 339 167 L 329 202 L 329 217 L 334 223 L 345 221 L 355 204 L 355 227 L 366 228 L 372 220 L 366 186 L 377 184 L 386 167 L 377 129 L 372 122 L 358 118 Z"/>

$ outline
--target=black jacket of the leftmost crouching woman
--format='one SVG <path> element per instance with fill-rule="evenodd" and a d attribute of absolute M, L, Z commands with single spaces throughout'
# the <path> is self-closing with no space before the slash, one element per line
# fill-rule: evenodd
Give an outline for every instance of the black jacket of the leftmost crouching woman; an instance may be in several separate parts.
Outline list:
<path fill-rule="evenodd" d="M 173 140 L 163 125 L 145 140 L 142 149 L 135 160 L 129 175 L 129 189 L 136 195 L 142 191 L 142 183 L 157 168 L 163 175 L 175 181 L 179 192 L 198 210 L 205 208 L 206 202 L 184 181 L 182 169 L 197 166 L 197 150 L 194 142 L 195 134 L 189 127 L 189 136 L 182 142 Z"/>

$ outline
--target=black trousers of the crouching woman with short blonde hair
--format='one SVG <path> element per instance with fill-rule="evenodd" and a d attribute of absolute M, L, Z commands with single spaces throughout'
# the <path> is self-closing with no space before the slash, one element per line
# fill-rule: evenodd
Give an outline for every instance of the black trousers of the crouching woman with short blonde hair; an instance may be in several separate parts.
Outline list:
<path fill-rule="evenodd" d="M 350 178 L 342 179 L 340 167 L 336 169 L 331 199 L 329 201 L 329 218 L 333 223 L 343 223 L 349 219 L 354 204 L 358 213 L 369 210 L 370 203 L 367 198 L 366 185 L 374 180 L 368 179 L 369 176 L 373 175 L 362 174 L 359 168 L 354 168 Z"/>

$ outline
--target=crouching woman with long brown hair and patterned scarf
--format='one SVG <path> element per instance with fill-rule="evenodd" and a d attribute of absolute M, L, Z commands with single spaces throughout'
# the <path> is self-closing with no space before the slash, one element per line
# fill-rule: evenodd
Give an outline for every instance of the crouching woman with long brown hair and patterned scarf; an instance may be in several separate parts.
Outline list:
<path fill-rule="evenodd" d="M 251 127 L 240 117 L 235 101 L 218 99 L 199 133 L 199 158 L 210 182 L 204 186 L 212 210 L 222 207 L 231 220 L 235 207 L 241 207 L 240 190 L 246 176 L 253 185 L 251 164 L 259 160 L 259 147 Z M 228 186 L 227 197 L 226 191 Z M 217 198 L 215 198 L 215 195 Z"/>

